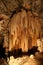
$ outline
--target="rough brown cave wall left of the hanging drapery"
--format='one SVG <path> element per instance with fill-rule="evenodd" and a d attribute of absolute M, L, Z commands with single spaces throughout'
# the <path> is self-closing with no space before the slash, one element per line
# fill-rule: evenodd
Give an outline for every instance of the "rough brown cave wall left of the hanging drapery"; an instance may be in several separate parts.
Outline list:
<path fill-rule="evenodd" d="M 8 50 L 8 22 L 9 17 L 5 14 L 0 14 L 0 47 L 5 48 L 5 52 Z"/>

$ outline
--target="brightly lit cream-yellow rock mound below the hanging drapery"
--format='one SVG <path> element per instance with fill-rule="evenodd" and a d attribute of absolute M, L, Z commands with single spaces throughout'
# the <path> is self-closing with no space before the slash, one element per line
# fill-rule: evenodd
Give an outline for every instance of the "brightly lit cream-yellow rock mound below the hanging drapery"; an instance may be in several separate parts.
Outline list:
<path fill-rule="evenodd" d="M 38 57 L 30 55 L 18 57 L 16 59 L 13 56 L 10 56 L 9 65 L 43 65 L 43 58 L 40 58 L 41 54 L 37 54 L 37 56 Z"/>

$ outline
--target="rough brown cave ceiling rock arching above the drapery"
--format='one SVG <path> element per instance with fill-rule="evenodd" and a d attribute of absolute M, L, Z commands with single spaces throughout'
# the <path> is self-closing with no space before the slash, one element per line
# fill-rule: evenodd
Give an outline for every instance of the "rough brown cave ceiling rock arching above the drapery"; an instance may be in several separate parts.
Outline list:
<path fill-rule="evenodd" d="M 0 14 L 12 16 L 21 6 L 25 7 L 30 4 L 30 10 L 37 12 L 39 18 L 42 22 L 42 32 L 43 32 L 43 0 L 0 0 Z"/>

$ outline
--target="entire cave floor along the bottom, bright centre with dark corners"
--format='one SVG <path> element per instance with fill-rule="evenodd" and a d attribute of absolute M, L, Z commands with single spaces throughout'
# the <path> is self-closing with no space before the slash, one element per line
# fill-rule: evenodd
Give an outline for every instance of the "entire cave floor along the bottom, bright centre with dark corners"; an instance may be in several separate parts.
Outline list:
<path fill-rule="evenodd" d="M 10 59 L 7 64 L 5 59 L 0 59 L 0 65 L 43 65 L 43 53 L 36 53 L 35 56 L 24 55 Z"/>

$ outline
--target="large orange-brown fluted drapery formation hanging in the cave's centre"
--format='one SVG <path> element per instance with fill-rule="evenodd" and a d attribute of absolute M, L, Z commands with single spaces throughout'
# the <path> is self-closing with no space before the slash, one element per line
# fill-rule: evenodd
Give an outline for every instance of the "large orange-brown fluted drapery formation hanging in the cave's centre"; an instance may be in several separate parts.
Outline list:
<path fill-rule="evenodd" d="M 21 9 L 9 23 L 9 51 L 22 49 L 27 52 L 37 46 L 36 40 L 40 38 L 41 26 L 37 13 Z"/>

